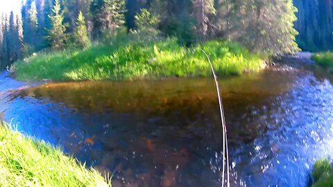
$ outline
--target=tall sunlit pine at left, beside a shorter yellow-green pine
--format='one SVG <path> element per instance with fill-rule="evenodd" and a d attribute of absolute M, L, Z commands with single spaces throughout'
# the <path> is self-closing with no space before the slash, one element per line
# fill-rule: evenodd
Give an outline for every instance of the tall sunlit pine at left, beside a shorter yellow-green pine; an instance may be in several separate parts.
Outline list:
<path fill-rule="evenodd" d="M 52 15 L 49 15 L 51 19 L 51 30 L 49 30 L 48 38 L 53 49 L 61 50 L 65 48 L 67 34 L 65 33 L 66 26 L 62 23 L 64 20 L 64 12 L 61 10 L 59 0 L 55 0 L 52 12 Z"/>

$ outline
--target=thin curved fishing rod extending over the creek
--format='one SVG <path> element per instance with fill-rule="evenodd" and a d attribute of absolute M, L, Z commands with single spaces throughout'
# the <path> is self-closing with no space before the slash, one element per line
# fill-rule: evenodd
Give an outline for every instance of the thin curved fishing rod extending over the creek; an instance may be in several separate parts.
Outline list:
<path fill-rule="evenodd" d="M 227 164 L 227 187 L 230 186 L 230 179 L 229 179 L 229 152 L 228 152 L 228 136 L 227 136 L 227 127 L 225 126 L 225 116 L 224 116 L 224 109 L 223 109 L 223 103 L 222 103 L 222 98 L 220 94 L 220 88 L 219 88 L 219 82 L 217 82 L 217 76 L 214 71 L 214 66 L 212 62 L 210 61 L 210 57 L 207 55 L 207 53 L 201 49 L 203 53 L 205 53 L 208 62 L 210 62 L 210 67 L 212 68 L 212 73 L 214 76 L 214 81 L 216 85 L 216 91 L 217 91 L 217 96 L 219 98 L 219 107 L 220 107 L 220 115 L 221 115 L 221 125 L 222 125 L 222 136 L 223 136 L 223 161 L 222 161 L 222 187 L 224 186 L 224 175 L 225 175 L 225 160 Z"/>

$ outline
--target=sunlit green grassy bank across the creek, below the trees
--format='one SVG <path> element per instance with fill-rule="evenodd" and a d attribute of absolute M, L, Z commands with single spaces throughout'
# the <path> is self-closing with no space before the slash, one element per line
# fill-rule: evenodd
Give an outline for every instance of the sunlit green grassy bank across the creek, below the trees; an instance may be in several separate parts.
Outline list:
<path fill-rule="evenodd" d="M 119 41 L 119 42 L 117 42 Z M 133 42 L 136 41 L 136 42 Z M 118 39 L 83 51 L 39 53 L 15 63 L 18 80 L 134 80 L 211 75 L 205 50 L 219 75 L 259 71 L 264 60 L 231 42 L 211 41 L 192 48 L 176 39 Z"/>

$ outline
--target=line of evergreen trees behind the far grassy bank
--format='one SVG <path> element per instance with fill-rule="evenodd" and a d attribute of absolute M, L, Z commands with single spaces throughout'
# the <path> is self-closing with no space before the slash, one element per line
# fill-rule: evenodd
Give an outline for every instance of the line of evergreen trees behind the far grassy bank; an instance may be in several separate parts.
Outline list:
<path fill-rule="evenodd" d="M 1 68 L 45 49 L 86 48 L 126 28 L 191 46 L 229 39 L 268 55 L 298 50 L 291 0 L 26 0 L 1 15 Z"/>

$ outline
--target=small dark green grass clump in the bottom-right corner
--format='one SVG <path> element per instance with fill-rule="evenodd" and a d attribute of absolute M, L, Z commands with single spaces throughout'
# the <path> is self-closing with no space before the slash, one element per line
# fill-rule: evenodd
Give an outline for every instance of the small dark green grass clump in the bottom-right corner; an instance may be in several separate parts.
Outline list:
<path fill-rule="evenodd" d="M 333 186 L 333 168 L 329 159 L 317 161 L 312 174 L 314 177 L 312 186 Z"/>

